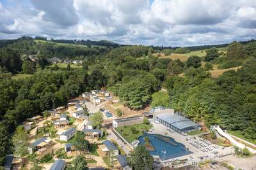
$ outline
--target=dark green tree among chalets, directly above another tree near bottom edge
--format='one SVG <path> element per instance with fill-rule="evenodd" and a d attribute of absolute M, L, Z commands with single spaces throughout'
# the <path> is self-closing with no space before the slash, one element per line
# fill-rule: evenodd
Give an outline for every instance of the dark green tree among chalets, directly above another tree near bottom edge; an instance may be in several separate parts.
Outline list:
<path fill-rule="evenodd" d="M 73 145 L 77 150 L 80 151 L 81 154 L 83 151 L 88 150 L 89 142 L 84 139 L 84 134 L 82 132 L 77 132 L 76 136 L 74 137 Z"/>

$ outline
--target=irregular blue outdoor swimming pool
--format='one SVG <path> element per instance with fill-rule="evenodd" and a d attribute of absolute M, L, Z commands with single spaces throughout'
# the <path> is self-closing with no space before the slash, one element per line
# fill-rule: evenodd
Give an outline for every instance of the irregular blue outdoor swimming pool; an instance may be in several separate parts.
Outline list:
<path fill-rule="evenodd" d="M 193 152 L 187 151 L 186 146 L 182 143 L 176 142 L 173 138 L 163 136 L 160 134 L 145 134 L 139 137 L 140 145 L 144 145 L 145 137 L 149 138 L 151 145 L 154 147 L 154 151 L 149 151 L 151 155 L 159 156 L 161 160 L 173 159 L 175 157 L 181 157 L 191 154 Z M 162 151 L 166 153 L 162 153 Z"/>

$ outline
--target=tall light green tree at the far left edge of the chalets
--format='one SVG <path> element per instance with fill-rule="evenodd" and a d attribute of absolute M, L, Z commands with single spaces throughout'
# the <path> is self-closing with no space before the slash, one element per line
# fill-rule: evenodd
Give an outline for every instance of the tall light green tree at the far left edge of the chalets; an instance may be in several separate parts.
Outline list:
<path fill-rule="evenodd" d="M 21 158 L 28 154 L 29 136 L 23 126 L 18 126 L 12 138 L 14 154 Z"/>

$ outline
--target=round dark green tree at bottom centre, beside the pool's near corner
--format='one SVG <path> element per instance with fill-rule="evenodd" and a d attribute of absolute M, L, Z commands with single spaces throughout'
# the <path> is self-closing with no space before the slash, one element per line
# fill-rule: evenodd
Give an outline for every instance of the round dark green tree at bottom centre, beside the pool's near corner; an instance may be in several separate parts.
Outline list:
<path fill-rule="evenodd" d="M 145 146 L 137 146 L 129 153 L 129 164 L 136 170 L 152 169 L 154 158 Z"/>

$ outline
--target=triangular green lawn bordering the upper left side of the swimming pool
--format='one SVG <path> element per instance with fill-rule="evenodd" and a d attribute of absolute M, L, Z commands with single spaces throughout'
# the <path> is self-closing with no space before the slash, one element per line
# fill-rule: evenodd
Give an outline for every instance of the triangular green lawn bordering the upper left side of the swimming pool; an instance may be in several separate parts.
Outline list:
<path fill-rule="evenodd" d="M 132 127 L 135 127 L 136 133 L 132 133 Z M 143 132 L 147 132 L 150 127 L 151 125 L 146 124 L 129 125 L 126 127 L 116 127 L 116 131 L 122 135 L 127 142 L 131 143 L 134 139 L 138 139 L 138 137 L 143 135 Z"/>

